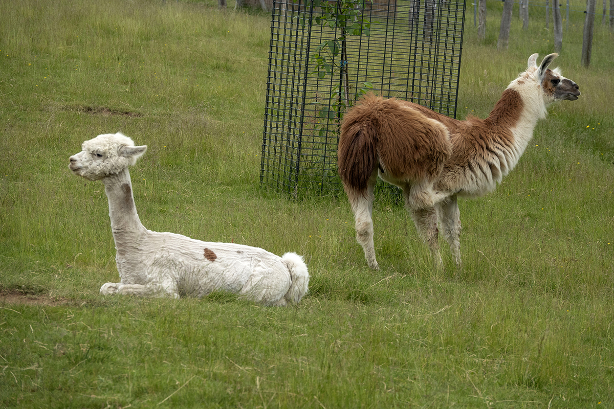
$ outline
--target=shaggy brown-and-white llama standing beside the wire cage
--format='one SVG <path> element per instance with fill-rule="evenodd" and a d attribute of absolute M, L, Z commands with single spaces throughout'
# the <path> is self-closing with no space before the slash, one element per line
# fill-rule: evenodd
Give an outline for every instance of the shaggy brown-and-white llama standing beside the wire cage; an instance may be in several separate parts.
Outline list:
<path fill-rule="evenodd" d="M 537 121 L 555 101 L 575 101 L 578 85 L 529 57 L 485 120 L 459 121 L 411 102 L 368 94 L 341 123 L 338 169 L 356 221 L 356 239 L 371 269 L 379 269 L 373 247 L 373 188 L 378 174 L 400 187 L 422 240 L 441 265 L 438 223 L 461 266 L 461 220 L 457 197 L 479 197 L 495 189 L 523 154 Z"/>

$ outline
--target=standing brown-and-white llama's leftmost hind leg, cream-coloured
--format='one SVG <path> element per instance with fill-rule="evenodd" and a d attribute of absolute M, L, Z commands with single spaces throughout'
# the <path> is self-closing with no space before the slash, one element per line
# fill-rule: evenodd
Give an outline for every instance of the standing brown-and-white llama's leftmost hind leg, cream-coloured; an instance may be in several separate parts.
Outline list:
<path fill-rule="evenodd" d="M 373 244 L 373 189 L 377 182 L 377 170 L 373 172 L 368 181 L 367 188 L 361 192 L 348 192 L 349 202 L 354 212 L 354 227 L 356 228 L 356 241 L 365 252 L 367 264 L 373 270 L 379 270 L 375 259 L 375 245 Z"/>

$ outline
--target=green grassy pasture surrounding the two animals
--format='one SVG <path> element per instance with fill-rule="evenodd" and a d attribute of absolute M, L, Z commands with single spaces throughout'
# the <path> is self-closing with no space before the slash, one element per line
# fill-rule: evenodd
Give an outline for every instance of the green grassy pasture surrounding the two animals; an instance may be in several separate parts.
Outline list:
<path fill-rule="evenodd" d="M 495 193 L 460 203 L 463 269 L 447 249 L 433 269 L 403 208 L 378 202 L 373 272 L 344 194 L 258 186 L 268 15 L 0 0 L 0 407 L 614 407 L 614 36 L 597 19 L 581 67 L 573 3 L 554 65 L 582 96 Z M 468 12 L 461 118 L 553 52 L 539 7 L 496 52 L 501 7 L 484 43 Z M 131 168 L 149 229 L 304 254 L 301 304 L 100 296 L 117 281 L 107 199 L 68 158 L 117 131 L 149 147 Z"/>

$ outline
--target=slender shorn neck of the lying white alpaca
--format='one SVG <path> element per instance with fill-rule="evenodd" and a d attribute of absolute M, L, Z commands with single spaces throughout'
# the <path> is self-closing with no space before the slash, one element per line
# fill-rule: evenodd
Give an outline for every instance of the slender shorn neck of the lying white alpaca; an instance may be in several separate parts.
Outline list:
<path fill-rule="evenodd" d="M 109 199 L 109 217 L 117 247 L 118 241 L 121 241 L 125 235 L 139 234 L 146 229 L 136 212 L 128 168 L 119 174 L 107 176 L 103 183 Z"/>

